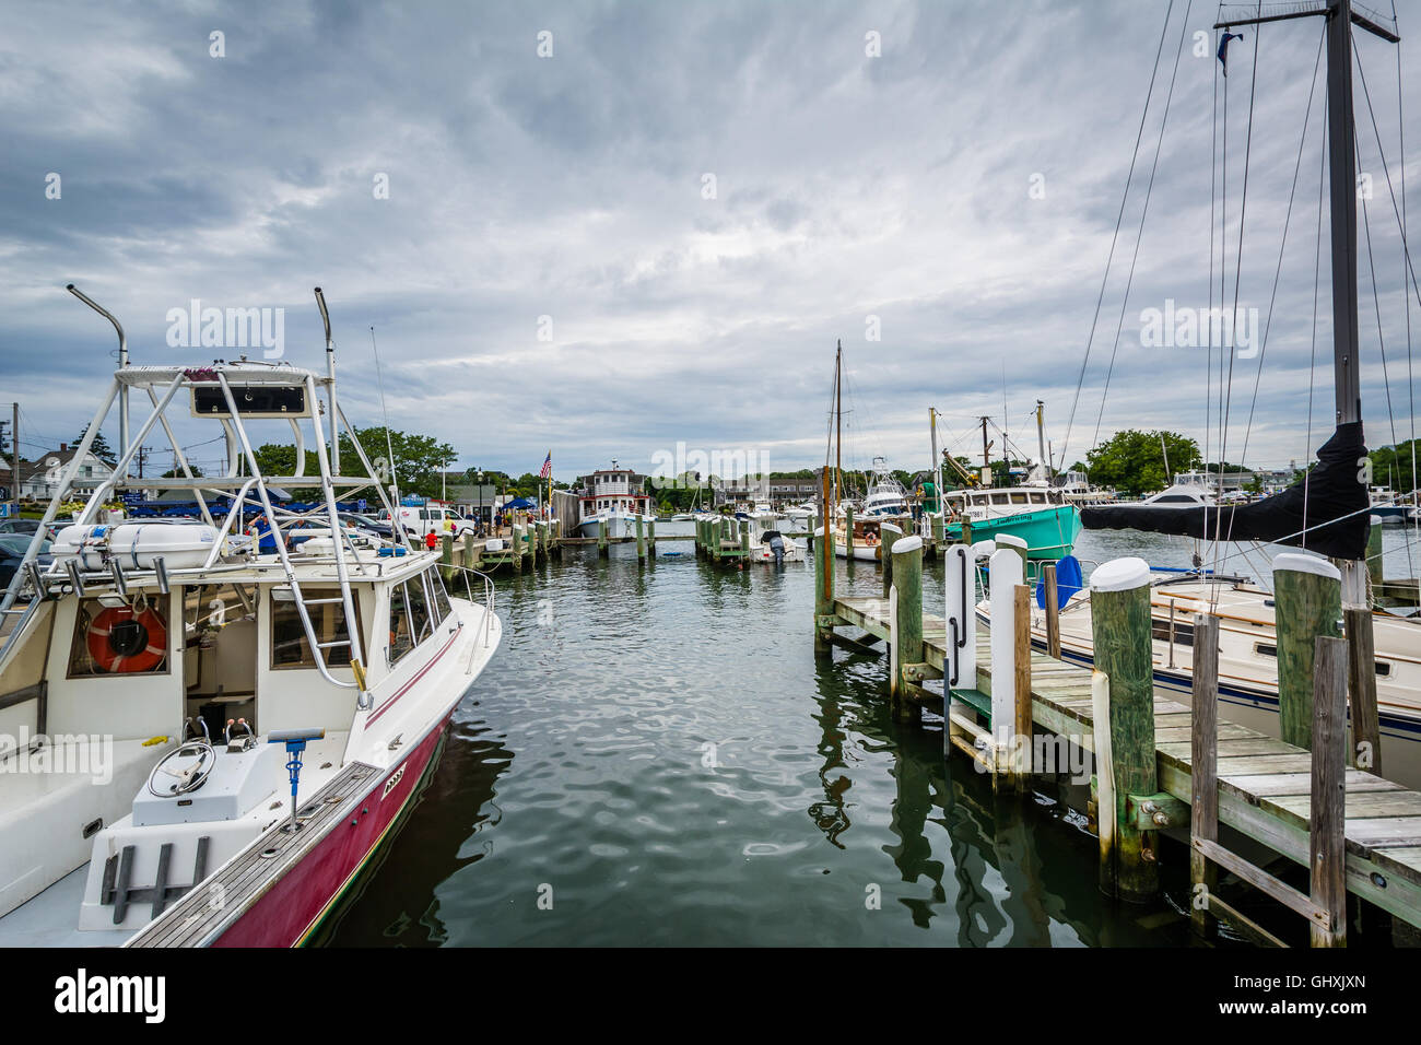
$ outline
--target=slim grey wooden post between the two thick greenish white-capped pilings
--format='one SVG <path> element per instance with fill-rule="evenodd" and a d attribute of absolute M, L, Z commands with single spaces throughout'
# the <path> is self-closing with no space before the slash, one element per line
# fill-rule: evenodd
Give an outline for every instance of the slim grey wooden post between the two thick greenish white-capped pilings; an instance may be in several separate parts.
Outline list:
<path fill-rule="evenodd" d="M 1218 785 L 1219 718 L 1219 618 L 1209 613 L 1194 614 L 1194 684 L 1189 697 L 1191 725 L 1191 798 L 1189 837 L 1219 840 Z M 1189 924 L 1201 937 L 1214 933 L 1209 897 L 1218 889 L 1215 863 L 1189 846 Z"/>

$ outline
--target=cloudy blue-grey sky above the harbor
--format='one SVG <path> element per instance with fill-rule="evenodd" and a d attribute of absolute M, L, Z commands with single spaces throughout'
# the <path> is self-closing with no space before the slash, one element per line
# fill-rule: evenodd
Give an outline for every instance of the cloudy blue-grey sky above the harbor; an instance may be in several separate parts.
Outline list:
<path fill-rule="evenodd" d="M 1421 3 L 1398 9 L 1403 34 L 1421 26 Z M 1206 417 L 1216 454 L 1209 350 L 1141 344 L 1142 313 L 1209 304 L 1211 242 L 1214 304 L 1232 304 L 1245 146 L 1238 301 L 1260 324 L 1272 304 L 1272 324 L 1265 351 L 1226 357 L 1226 454 L 1303 459 L 1310 385 L 1312 445 L 1330 429 L 1326 250 L 1310 365 L 1320 82 L 1299 152 L 1322 18 L 1233 41 L 1223 192 L 1214 3 L 3 10 L 0 402 L 20 401 L 30 454 L 72 439 L 111 370 L 112 331 L 70 282 L 119 317 L 135 363 L 236 355 L 169 347 L 169 310 L 199 299 L 284 309 L 284 358 L 311 367 L 323 286 L 357 424 L 381 417 L 374 326 L 391 422 L 514 473 L 549 449 L 560 476 L 611 458 L 649 468 L 678 442 L 813 466 L 836 340 L 845 463 L 925 466 L 929 405 L 953 449 L 979 448 L 990 414 L 1034 454 L 1037 398 L 1067 463 L 1128 427 L 1202 445 Z M 1364 34 L 1357 48 L 1391 183 L 1404 134 L 1415 196 L 1421 73 L 1403 75 L 1398 119 L 1395 48 Z M 1380 445 L 1412 425 L 1403 256 L 1360 78 L 1357 107 L 1383 314 L 1378 344 L 1363 239 L 1364 415 Z M 1421 340 L 1414 300 L 1412 323 Z M 117 422 L 105 431 L 117 442 Z"/>

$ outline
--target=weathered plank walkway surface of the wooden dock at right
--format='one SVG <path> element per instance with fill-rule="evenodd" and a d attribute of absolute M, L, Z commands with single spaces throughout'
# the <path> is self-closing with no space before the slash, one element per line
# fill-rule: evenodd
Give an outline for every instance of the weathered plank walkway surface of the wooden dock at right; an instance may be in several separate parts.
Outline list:
<path fill-rule="evenodd" d="M 844 623 L 890 638 L 888 600 L 834 597 Z M 946 623 L 924 614 L 924 658 L 942 668 Z M 1091 672 L 1032 651 L 1032 719 L 1049 732 L 1094 751 Z M 978 638 L 978 688 L 990 692 L 992 663 Z M 1155 698 L 1155 758 L 1160 788 L 1185 805 L 1191 799 L 1189 708 Z M 1303 748 L 1219 719 L 1219 820 L 1307 866 L 1312 756 Z M 1188 830 L 1188 823 L 1182 825 Z M 1346 776 L 1347 890 L 1395 917 L 1421 926 L 1421 793 L 1380 776 L 1349 769 Z"/>

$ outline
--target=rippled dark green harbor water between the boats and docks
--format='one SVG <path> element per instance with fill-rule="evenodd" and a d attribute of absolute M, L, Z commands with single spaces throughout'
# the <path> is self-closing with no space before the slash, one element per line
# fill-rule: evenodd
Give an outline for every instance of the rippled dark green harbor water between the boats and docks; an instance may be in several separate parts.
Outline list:
<path fill-rule="evenodd" d="M 1393 576 L 1403 540 L 1387 535 Z M 1178 564 L 1191 550 L 1138 533 L 1077 545 L 1094 562 Z M 875 564 L 836 569 L 841 591 L 880 590 Z M 941 564 L 924 589 L 941 613 Z M 715 569 L 691 542 L 662 542 L 648 566 L 631 545 L 608 559 L 570 549 L 537 576 L 500 577 L 499 613 L 502 650 L 330 943 L 1189 940 L 1182 846 L 1162 850 L 1158 904 L 1107 900 L 1063 791 L 993 799 L 968 759 L 944 761 L 935 715 L 891 721 L 882 660 L 816 661 L 811 563 Z"/>

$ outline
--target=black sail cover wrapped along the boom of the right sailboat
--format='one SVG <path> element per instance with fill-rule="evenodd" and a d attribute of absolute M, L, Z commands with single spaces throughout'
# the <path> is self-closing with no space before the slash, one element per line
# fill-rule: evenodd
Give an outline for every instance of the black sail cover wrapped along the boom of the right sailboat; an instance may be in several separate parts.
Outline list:
<path fill-rule="evenodd" d="M 1148 530 L 1201 540 L 1260 540 L 1296 545 L 1331 559 L 1367 556 L 1366 465 L 1361 422 L 1337 425 L 1317 451 L 1317 466 L 1304 482 L 1252 505 L 1167 508 L 1107 505 L 1083 508 L 1088 530 Z M 1304 510 L 1306 508 L 1306 510 Z M 1306 533 L 1304 533 L 1306 530 Z"/>

